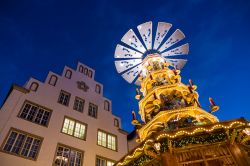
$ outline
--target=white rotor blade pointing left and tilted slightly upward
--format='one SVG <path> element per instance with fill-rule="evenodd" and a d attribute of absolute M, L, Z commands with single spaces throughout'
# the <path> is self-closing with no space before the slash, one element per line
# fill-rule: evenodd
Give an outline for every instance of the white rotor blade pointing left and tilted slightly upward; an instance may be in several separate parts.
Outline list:
<path fill-rule="evenodd" d="M 117 44 L 115 58 L 142 58 L 142 53 Z"/>

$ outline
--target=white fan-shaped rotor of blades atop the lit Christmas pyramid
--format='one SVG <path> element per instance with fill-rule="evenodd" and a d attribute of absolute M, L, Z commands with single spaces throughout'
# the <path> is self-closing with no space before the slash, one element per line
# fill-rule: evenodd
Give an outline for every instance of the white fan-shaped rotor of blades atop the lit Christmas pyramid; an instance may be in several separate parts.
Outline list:
<path fill-rule="evenodd" d="M 145 65 L 145 63 L 143 63 L 143 59 L 149 52 L 160 53 L 161 57 L 165 57 L 165 60 L 163 60 L 163 58 L 161 59 L 168 62 L 172 67 L 181 69 L 185 65 L 187 61 L 186 59 L 170 58 L 177 55 L 188 54 L 188 44 L 176 46 L 176 44 L 185 38 L 184 33 L 177 29 L 164 42 L 164 38 L 168 35 L 171 27 L 172 25 L 169 23 L 158 23 L 153 47 L 153 23 L 151 21 L 137 26 L 137 33 L 130 29 L 122 37 L 121 43 L 116 46 L 114 57 L 117 59 L 115 61 L 116 69 L 118 73 L 122 73 L 122 77 L 126 81 L 132 83 L 140 74 L 146 76 L 143 72 L 143 66 Z M 139 35 L 143 41 L 140 41 L 137 37 Z M 139 84 L 137 81 L 135 81 L 135 83 Z"/>

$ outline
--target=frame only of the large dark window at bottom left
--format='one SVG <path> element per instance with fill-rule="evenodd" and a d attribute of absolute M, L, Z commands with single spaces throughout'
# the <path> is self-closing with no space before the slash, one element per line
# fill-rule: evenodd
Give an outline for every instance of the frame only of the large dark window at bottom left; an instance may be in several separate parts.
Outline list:
<path fill-rule="evenodd" d="M 18 154 L 13 153 L 13 152 L 9 152 L 9 151 L 5 151 L 5 150 L 4 150 L 4 147 L 5 147 L 5 145 L 6 145 L 7 141 L 8 141 L 8 138 L 10 137 L 10 134 L 11 134 L 12 132 L 16 132 L 16 133 L 18 133 L 18 134 L 23 134 L 23 135 L 25 135 L 24 141 L 22 142 L 22 145 L 21 145 L 21 148 L 20 148 L 20 151 L 19 151 Z M 38 146 L 38 148 L 37 148 L 37 153 L 36 153 L 35 158 L 26 157 L 26 156 L 21 155 L 22 150 L 23 150 L 23 148 L 24 148 L 24 145 L 25 145 L 25 143 L 26 143 L 27 137 L 32 137 L 33 139 L 40 140 L 40 144 L 39 144 L 39 146 Z M 0 150 L 0 151 L 3 152 L 3 153 L 9 154 L 9 155 L 14 155 L 14 156 L 21 157 L 21 158 L 24 158 L 24 159 L 28 159 L 28 160 L 32 160 L 32 161 L 37 161 L 37 158 L 38 158 L 38 156 L 39 156 L 39 153 L 40 153 L 40 150 L 41 150 L 41 147 L 42 147 L 42 144 L 43 144 L 43 139 L 44 139 L 43 137 L 34 135 L 34 134 L 32 134 L 32 133 L 29 133 L 29 132 L 26 132 L 26 131 L 23 131 L 23 130 L 16 129 L 16 128 L 14 128 L 14 127 L 11 127 L 11 128 L 9 129 L 7 135 L 5 136 L 5 138 L 4 138 L 3 142 L 2 142 L 2 144 L 1 144 L 1 150 Z M 16 139 L 15 139 L 15 142 L 16 142 Z M 15 143 L 14 143 L 14 144 L 15 144 Z M 33 145 L 33 144 L 32 144 L 32 145 Z M 12 145 L 12 146 L 15 146 L 15 145 Z M 12 148 L 13 148 L 13 147 L 12 147 Z M 30 150 L 31 150 L 31 148 L 32 148 L 32 147 L 30 147 Z"/>

